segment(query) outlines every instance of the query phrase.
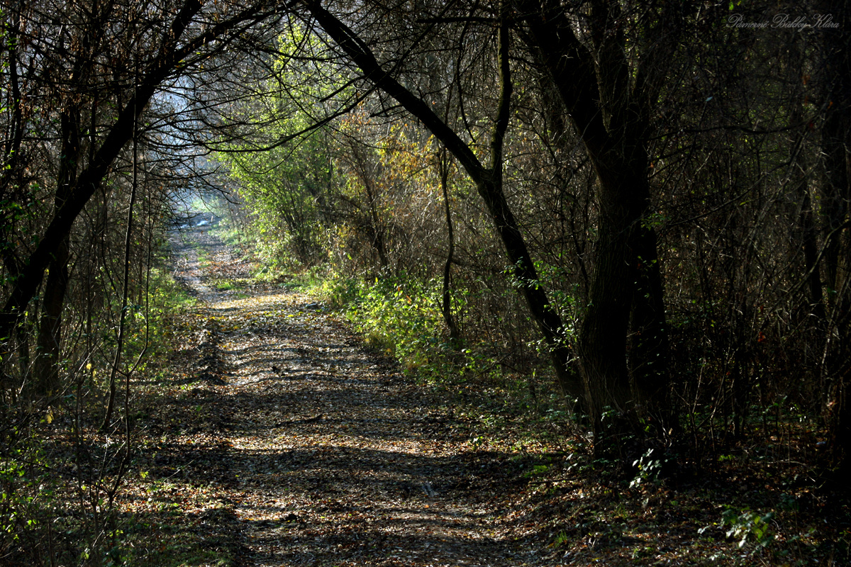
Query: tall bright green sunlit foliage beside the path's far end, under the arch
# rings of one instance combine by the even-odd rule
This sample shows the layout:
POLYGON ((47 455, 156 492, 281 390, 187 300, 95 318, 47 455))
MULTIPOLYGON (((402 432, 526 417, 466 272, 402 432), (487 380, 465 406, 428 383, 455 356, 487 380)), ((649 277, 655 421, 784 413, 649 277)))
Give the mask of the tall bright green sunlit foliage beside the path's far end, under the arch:
POLYGON ((331 189, 340 181, 329 132, 314 128, 318 118, 308 109, 311 102, 326 108, 327 97, 345 96, 351 87, 340 71, 297 56, 323 48, 305 30, 291 27, 278 43, 282 55, 273 61, 277 77, 260 83, 256 105, 237 105, 231 116, 234 122, 263 126, 253 139, 220 146, 214 159, 239 186, 249 221, 243 230, 260 258, 272 267, 310 265, 324 259, 323 217, 331 206, 331 189), (266 151, 248 151, 264 145, 269 146, 266 151))

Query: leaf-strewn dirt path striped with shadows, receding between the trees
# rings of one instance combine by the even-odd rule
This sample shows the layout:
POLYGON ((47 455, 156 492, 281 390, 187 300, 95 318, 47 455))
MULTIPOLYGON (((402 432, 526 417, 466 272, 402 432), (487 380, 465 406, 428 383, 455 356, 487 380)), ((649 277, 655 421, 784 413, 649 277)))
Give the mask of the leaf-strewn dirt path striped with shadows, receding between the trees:
POLYGON ((507 456, 311 298, 247 285, 253 265, 209 228, 174 248, 205 323, 197 422, 159 457, 207 487, 208 544, 258 567, 537 563, 502 517, 507 456))

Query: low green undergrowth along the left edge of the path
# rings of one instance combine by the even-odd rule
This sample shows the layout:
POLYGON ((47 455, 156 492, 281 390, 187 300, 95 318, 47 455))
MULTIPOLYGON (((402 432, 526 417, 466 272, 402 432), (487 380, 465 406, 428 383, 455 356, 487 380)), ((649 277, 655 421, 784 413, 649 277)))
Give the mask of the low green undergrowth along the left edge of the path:
POLYGON ((64 362, 66 387, 59 394, 29 404, 3 400, 0 565, 123 564, 128 520, 115 503, 134 458, 135 384, 165 370, 175 314, 192 302, 164 270, 151 271, 149 298, 128 309, 119 414, 106 427, 115 342, 106 325, 89 337, 87 349, 77 345, 83 354, 64 362), (131 377, 129 404, 125 376, 131 377))

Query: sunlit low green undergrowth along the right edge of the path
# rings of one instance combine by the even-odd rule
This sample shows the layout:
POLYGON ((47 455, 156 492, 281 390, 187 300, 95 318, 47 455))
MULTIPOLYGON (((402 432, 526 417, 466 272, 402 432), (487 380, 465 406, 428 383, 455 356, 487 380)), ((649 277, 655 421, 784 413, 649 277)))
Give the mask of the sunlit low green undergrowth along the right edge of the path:
MULTIPOLYGON (((366 281, 311 273, 307 281, 308 293, 340 309, 370 346, 398 360, 403 371, 421 383, 462 398, 471 392, 493 398, 483 404, 500 412, 547 420, 567 417, 547 361, 518 361, 516 353, 487 337, 450 340, 437 278, 420 282, 398 275, 366 281)), ((452 304, 459 318, 471 309, 460 292, 453 294, 452 304)))

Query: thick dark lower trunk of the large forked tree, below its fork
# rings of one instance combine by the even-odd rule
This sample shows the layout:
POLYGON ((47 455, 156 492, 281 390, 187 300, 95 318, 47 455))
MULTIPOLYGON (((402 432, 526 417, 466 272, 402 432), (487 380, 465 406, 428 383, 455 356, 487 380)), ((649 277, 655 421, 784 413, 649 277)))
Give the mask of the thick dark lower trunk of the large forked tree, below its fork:
POLYGON ((603 439, 648 424, 670 426, 670 407, 662 281, 656 237, 646 225, 647 176, 629 165, 595 162, 599 238, 580 357, 595 432, 603 439), (603 422, 607 414, 612 423, 603 422))

